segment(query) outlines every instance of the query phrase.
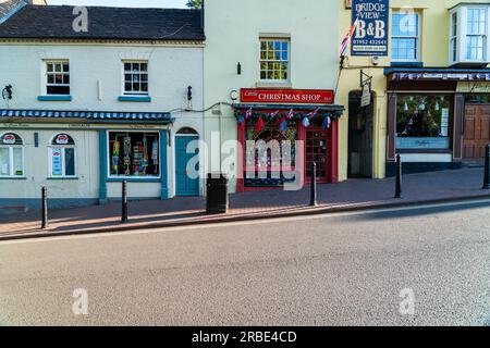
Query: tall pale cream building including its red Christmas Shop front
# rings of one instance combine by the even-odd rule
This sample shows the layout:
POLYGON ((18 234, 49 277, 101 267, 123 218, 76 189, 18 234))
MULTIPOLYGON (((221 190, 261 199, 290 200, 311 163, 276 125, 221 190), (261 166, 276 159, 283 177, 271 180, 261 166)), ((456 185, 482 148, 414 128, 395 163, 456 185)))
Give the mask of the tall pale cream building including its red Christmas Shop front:
POLYGON ((206 1, 209 167, 229 175, 231 191, 307 182, 313 162, 320 182, 343 178, 339 42, 328 34, 338 13, 332 1, 206 1))

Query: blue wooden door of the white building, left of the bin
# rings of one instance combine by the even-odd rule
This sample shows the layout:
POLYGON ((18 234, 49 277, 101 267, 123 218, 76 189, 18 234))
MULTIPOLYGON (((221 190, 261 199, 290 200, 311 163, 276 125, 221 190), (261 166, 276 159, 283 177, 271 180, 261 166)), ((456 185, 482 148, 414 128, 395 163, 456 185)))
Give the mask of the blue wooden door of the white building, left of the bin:
MULTIPOLYGON (((176 136, 175 137, 175 189, 176 196, 199 196, 199 178, 191 178, 187 172, 187 163, 199 150, 187 153, 187 145, 197 140, 197 136, 176 136)), ((199 163, 197 162, 195 170, 199 173, 199 163)))

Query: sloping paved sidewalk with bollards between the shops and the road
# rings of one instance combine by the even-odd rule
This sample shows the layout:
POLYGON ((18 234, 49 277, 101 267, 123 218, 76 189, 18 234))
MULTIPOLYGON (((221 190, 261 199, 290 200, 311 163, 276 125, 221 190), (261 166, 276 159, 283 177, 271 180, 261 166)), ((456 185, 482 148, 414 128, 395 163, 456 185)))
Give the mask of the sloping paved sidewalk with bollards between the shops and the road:
POLYGON ((481 189, 483 169, 411 174, 403 177, 403 198, 393 199, 394 178, 350 179, 318 186, 317 208, 309 208, 309 186, 299 191, 270 189, 230 196, 230 211, 206 215, 204 198, 130 202, 130 223, 121 225, 121 203, 52 210, 48 231, 39 231, 39 212, 0 215, 0 239, 89 232, 175 226, 319 212, 339 212, 464 198, 490 198, 481 189))

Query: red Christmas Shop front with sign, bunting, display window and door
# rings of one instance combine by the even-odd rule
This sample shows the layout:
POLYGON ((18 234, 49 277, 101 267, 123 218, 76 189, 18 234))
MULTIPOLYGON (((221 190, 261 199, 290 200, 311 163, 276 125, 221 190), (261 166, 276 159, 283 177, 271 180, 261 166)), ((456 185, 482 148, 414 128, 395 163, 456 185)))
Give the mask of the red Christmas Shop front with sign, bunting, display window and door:
POLYGON ((331 90, 242 89, 234 104, 237 121, 237 191, 311 182, 336 183, 338 120, 344 108, 333 104, 331 90), (287 102, 287 103, 284 103, 287 102))

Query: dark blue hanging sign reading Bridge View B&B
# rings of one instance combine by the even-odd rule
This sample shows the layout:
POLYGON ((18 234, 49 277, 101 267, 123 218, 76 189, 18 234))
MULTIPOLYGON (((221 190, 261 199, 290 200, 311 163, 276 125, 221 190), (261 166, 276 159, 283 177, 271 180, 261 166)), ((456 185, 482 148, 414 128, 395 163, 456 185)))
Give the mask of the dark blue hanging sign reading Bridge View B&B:
POLYGON ((388 55, 389 0, 353 0, 352 23, 358 18, 352 38, 352 55, 388 55))

